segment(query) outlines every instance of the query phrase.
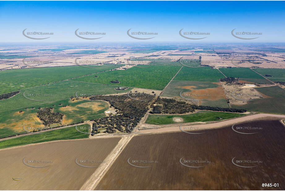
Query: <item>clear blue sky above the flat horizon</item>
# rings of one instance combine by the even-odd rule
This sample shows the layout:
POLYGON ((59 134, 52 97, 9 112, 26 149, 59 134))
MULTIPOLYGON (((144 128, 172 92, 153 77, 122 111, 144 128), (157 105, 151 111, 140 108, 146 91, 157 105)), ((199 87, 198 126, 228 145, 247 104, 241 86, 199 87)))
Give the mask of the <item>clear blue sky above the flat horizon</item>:
MULTIPOLYGON (((0 42, 285 42, 285 2, 283 1, 7 1, 0 2, 0 42), (53 32, 50 37, 34 40, 22 32, 53 32), (102 37, 85 40, 78 32, 105 32, 102 37), (127 35, 130 32, 157 32, 154 37, 138 40, 127 35), (189 40, 182 32, 209 32, 207 37, 189 40), (261 32, 259 37, 242 40, 231 35, 235 32, 261 32)), ((82 35, 84 36, 84 35, 82 35)))

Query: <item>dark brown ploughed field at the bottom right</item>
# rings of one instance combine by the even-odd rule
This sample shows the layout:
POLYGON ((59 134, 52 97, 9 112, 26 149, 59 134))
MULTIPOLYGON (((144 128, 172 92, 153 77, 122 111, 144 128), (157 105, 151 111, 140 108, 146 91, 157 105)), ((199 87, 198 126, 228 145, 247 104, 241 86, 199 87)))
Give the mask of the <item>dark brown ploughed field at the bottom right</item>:
POLYGON ((285 127, 271 118, 238 126, 262 129, 255 130, 256 134, 239 134, 229 125, 195 131, 203 134, 135 136, 95 190, 284 190, 285 127), (238 167, 232 163, 233 158, 240 166, 256 167, 238 167), (279 183, 279 187, 262 187, 262 183, 269 182, 279 183))

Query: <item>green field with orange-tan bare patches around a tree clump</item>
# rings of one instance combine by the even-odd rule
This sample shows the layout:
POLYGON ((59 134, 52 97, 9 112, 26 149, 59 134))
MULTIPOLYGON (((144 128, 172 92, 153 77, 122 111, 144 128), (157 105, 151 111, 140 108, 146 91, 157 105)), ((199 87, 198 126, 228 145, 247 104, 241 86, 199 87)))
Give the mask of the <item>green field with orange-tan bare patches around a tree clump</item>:
MULTIPOLYGON (((27 108, 15 109, 1 112, 0 115, 0 137, 24 133, 23 125, 43 127, 42 122, 37 118, 38 108, 53 108, 53 112, 64 114, 62 125, 79 123, 97 118, 105 117, 105 111, 109 108, 103 101, 84 101, 65 99, 52 103, 29 106, 27 108), (32 108, 34 107, 34 108, 32 108), (18 113, 19 111, 21 113, 18 113)), ((60 124, 54 124, 58 126, 60 124)))

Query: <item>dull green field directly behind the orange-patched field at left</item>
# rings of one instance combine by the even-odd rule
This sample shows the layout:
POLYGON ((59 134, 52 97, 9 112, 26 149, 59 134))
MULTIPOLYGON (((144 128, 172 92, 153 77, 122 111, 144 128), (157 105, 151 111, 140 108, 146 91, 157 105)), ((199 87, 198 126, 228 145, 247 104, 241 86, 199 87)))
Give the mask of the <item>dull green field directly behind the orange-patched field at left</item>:
MULTIPOLYGON (((93 76, 93 75, 92 75, 93 76)), ((62 81, 57 83, 51 83, 44 86, 33 87, 27 90, 21 90, 19 94, 5 100, 0 100, 0 115, 1 112, 14 110, 16 108, 23 109, 25 107, 38 107, 45 103, 53 103, 57 100, 64 100, 68 99, 69 97, 75 97, 76 91, 78 91, 78 96, 80 94, 91 94, 91 95, 98 95, 98 94, 115 94, 115 93, 124 93, 130 91, 132 88, 128 88, 126 90, 115 90, 117 86, 110 86, 110 85, 101 85, 101 84, 92 84, 92 83, 81 83, 81 82, 74 82, 74 81, 62 81), (28 100, 23 96, 25 92, 25 96, 29 99, 28 100), (28 96, 32 94, 38 94, 37 96, 28 96), (40 96, 43 95, 50 95, 50 96, 40 96), (52 96, 51 96, 52 95, 52 96), (34 101, 34 100, 44 100, 44 101, 34 101)))

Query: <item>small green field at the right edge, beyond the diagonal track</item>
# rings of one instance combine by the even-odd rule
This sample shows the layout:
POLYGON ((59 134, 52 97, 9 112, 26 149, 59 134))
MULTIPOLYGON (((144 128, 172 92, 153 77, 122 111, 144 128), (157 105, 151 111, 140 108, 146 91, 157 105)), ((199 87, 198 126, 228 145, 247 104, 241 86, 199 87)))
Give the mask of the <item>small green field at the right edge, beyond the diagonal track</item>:
POLYGON ((259 74, 265 76, 266 74, 271 76, 265 76, 273 82, 285 82, 285 69, 276 69, 276 68, 255 68, 253 69, 259 74))

